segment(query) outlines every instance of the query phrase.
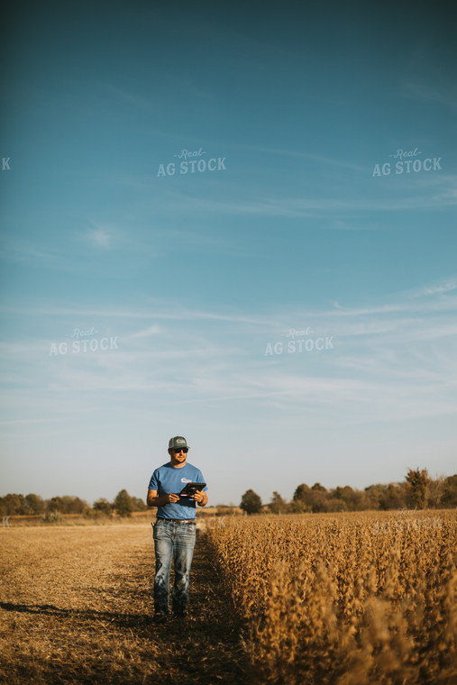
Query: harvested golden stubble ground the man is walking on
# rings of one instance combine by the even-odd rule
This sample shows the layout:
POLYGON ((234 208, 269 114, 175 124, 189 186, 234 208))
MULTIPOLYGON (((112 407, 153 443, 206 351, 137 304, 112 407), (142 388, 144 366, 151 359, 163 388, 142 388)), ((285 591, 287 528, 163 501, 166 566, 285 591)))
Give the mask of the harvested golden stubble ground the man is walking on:
POLYGON ((189 617, 152 624, 149 524, 0 530, 0 682, 247 682, 230 599, 205 536, 189 617))

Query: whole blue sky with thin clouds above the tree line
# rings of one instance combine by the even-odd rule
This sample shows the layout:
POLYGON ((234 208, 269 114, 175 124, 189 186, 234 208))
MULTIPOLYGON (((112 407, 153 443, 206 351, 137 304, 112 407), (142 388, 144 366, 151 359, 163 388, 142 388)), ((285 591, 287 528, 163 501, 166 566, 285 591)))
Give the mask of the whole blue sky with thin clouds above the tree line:
POLYGON ((1 495, 456 472, 446 6, 9 5, 1 495))

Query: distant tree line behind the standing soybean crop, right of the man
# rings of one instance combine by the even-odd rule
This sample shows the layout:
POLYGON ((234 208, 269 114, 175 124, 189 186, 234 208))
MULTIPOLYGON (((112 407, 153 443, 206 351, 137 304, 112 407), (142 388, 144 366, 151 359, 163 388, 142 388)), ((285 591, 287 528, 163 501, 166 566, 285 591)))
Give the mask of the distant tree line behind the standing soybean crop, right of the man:
POLYGON ((349 485, 326 489, 320 483, 310 488, 306 483, 301 483, 290 502, 275 491, 268 504, 263 504, 260 496, 249 489, 242 496, 240 507, 247 514, 263 511, 287 514, 451 508, 457 507, 457 474, 432 479, 426 469, 409 469, 406 479, 401 483, 370 485, 363 490, 353 489, 349 485))

